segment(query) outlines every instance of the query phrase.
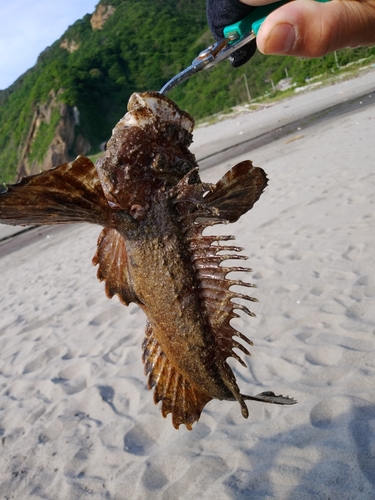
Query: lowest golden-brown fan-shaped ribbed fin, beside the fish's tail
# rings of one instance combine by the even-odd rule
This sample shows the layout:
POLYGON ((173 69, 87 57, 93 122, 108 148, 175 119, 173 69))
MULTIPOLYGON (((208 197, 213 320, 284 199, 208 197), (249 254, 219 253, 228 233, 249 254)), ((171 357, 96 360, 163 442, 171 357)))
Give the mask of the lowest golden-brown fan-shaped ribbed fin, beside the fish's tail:
POLYGON ((199 420, 203 408, 212 398, 194 387, 177 371, 164 354, 149 322, 142 348, 148 388, 155 389, 155 404, 162 402, 163 417, 168 413, 172 414, 175 429, 185 424, 188 430, 192 430, 193 423, 199 420))

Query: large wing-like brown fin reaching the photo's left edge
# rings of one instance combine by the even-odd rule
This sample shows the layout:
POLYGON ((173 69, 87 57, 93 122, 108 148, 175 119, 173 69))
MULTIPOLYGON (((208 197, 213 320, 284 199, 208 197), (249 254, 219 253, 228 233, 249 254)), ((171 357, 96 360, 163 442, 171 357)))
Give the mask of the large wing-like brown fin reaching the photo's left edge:
POLYGON ((0 222, 4 224, 91 222, 108 226, 112 214, 95 165, 85 156, 24 177, 0 194, 0 222))

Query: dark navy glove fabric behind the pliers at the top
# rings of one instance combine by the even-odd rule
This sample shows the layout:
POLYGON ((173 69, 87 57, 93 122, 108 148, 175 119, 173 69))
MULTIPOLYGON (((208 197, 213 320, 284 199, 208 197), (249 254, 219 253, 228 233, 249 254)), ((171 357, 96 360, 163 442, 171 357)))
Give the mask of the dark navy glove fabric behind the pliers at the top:
MULTIPOLYGON (((224 38, 223 29, 226 26, 240 21, 252 11, 254 7, 245 5, 239 0, 207 0, 207 21, 216 40, 224 38)), ((256 42, 252 40, 240 49, 233 52, 229 58, 232 66, 237 68, 245 64, 256 50, 256 42)))

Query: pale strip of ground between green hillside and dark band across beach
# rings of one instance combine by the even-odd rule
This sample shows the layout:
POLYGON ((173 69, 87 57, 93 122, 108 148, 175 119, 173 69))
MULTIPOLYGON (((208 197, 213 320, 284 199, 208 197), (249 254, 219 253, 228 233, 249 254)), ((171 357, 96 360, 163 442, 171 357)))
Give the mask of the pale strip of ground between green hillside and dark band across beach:
MULTIPOLYGON (((303 121, 311 116, 319 119, 319 113, 327 110, 341 113, 353 106, 369 104, 375 104, 375 68, 356 78, 318 87, 267 108, 244 112, 214 125, 198 128, 194 133, 191 150, 197 156, 201 168, 208 168, 290 133, 293 127, 296 130, 298 126, 303 127, 303 121), (364 96, 366 99, 362 102, 360 98, 364 96)), ((58 230, 61 229, 60 226, 58 230)), ((9 240, 13 235, 24 231, 24 227, 0 224, 0 256, 16 248, 15 243, 9 240)), ((30 231, 21 240, 26 244, 33 238, 44 236, 45 231, 30 231)))

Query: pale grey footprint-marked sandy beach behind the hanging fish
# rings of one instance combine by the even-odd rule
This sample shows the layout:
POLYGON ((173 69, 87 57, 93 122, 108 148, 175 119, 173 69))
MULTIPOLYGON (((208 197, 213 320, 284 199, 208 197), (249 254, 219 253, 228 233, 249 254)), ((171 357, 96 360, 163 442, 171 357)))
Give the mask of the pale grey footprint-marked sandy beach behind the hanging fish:
POLYGON ((145 316, 108 300, 91 264, 99 227, 0 242, 0 498, 375 498, 374 137, 375 70, 196 133, 205 181, 244 159, 269 177, 214 230, 257 285, 257 317, 236 320, 254 342, 248 368, 230 362, 241 392, 298 400, 249 402, 247 420, 229 401, 190 432, 162 417, 145 316))

